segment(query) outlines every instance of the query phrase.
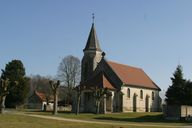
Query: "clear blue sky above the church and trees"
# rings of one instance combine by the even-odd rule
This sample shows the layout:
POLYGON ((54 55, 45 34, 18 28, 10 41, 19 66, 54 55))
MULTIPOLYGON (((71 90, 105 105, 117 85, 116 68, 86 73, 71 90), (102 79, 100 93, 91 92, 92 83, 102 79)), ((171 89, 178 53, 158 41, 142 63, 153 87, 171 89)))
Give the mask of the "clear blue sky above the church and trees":
POLYGON ((0 69, 56 76, 61 59, 82 59, 95 14, 106 59, 142 68, 167 90, 178 64, 192 78, 191 0, 0 0, 0 69))

